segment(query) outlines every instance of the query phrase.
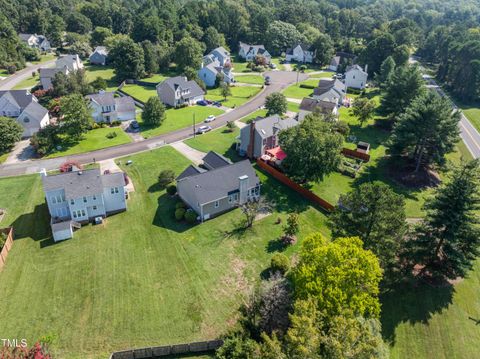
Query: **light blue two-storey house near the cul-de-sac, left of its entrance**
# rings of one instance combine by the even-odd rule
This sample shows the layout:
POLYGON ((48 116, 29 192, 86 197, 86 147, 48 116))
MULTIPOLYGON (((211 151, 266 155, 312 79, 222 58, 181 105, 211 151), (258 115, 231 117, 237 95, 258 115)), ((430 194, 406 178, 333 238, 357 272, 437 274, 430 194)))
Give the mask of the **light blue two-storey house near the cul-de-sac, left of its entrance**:
POLYGON ((217 76, 221 76, 223 81, 230 84, 235 81, 230 53, 223 47, 217 47, 202 59, 202 67, 198 70, 198 77, 207 87, 215 86, 217 76))

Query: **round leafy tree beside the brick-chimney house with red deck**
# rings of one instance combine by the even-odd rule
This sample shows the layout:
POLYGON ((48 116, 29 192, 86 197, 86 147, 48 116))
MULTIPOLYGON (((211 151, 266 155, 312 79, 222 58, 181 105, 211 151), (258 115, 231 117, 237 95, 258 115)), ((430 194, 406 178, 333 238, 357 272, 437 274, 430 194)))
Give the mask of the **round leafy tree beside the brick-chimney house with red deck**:
POLYGON ((318 182, 338 168, 343 137, 331 123, 310 115, 281 131, 279 144, 287 154, 282 165, 292 179, 318 182))

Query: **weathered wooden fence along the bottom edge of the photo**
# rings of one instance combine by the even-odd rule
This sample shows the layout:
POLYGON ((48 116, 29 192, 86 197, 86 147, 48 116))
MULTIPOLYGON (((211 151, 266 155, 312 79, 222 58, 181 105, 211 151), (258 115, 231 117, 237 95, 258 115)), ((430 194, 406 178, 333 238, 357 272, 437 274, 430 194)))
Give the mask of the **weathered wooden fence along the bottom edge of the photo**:
POLYGON ((168 355, 200 354, 213 352, 223 345, 223 340, 210 340, 205 342, 164 345, 161 347, 148 347, 115 352, 110 359, 150 359, 168 355))

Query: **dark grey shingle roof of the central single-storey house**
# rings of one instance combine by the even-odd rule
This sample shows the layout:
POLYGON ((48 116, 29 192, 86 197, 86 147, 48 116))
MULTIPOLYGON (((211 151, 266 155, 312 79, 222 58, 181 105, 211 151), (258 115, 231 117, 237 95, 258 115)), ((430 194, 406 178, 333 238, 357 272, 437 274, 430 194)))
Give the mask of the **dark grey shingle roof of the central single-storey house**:
POLYGON ((239 189, 239 177, 248 176, 248 188, 260 181, 249 160, 243 160, 210 171, 184 177, 182 187, 195 197, 196 202, 206 204, 228 196, 239 189))

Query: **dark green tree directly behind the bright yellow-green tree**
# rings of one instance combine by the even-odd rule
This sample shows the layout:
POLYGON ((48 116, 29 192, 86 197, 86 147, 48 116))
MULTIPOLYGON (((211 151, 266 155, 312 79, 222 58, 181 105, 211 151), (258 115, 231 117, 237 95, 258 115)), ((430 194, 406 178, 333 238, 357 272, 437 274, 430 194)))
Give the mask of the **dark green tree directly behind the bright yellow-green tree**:
POLYGON ((364 183, 340 196, 330 216, 335 237, 360 237, 383 269, 396 263, 406 230, 405 201, 381 182, 364 183))

